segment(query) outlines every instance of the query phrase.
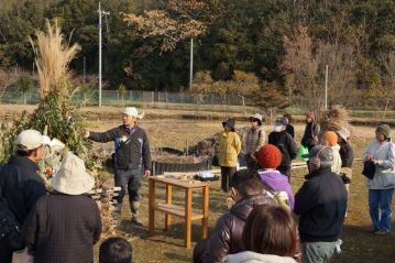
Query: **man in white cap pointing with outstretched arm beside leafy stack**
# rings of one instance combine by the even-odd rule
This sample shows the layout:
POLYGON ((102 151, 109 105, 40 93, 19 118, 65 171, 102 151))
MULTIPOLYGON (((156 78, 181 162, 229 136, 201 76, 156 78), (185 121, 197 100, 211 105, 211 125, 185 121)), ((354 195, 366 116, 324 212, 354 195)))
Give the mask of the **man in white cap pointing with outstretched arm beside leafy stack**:
POLYGON ((116 186, 121 187, 118 197, 118 213, 121 213, 122 200, 128 187, 130 208, 132 210, 132 222, 141 227, 138 218, 140 208, 141 176, 151 175, 151 152, 149 138, 141 129, 136 120, 142 119, 134 107, 127 107, 123 110, 123 124, 106 132, 87 132, 86 138, 96 142, 116 143, 114 171, 116 186))

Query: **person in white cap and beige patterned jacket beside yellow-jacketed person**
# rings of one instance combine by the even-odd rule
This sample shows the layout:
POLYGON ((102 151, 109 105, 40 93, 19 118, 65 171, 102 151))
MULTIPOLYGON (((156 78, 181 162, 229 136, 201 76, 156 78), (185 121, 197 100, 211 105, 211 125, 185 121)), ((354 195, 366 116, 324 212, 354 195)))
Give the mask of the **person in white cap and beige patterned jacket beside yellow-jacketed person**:
POLYGON ((266 143, 266 134, 262 128, 263 117, 260 113, 251 116, 251 128, 246 132, 244 140, 245 145, 245 162, 246 166, 251 171, 259 168, 255 153, 266 143))

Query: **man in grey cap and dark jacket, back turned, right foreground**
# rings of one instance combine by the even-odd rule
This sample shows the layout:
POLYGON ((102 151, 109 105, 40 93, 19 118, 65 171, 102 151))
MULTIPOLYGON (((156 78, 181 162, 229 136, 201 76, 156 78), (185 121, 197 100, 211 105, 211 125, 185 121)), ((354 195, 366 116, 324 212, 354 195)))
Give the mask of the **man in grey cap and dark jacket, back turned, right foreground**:
POLYGON ((295 195, 294 212, 299 215, 304 262, 329 262, 337 248, 347 210, 347 191, 341 178, 331 172, 333 152, 314 146, 306 182, 295 195))

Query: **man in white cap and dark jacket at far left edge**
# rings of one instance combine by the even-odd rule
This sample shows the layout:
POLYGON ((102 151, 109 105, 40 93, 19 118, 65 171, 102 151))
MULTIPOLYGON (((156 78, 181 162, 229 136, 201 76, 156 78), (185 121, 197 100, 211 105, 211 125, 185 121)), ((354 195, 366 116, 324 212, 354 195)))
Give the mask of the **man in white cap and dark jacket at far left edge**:
MULTIPOLYGON (((28 213, 46 193, 37 173, 37 162, 44 157, 44 153, 42 134, 35 130, 22 131, 17 136, 15 155, 0 169, 0 211, 8 207, 7 210, 20 226, 25 223, 28 213)), ((0 262, 11 262, 12 252, 23 248, 23 244, 22 248, 10 248, 10 243, 1 239, 0 262)))

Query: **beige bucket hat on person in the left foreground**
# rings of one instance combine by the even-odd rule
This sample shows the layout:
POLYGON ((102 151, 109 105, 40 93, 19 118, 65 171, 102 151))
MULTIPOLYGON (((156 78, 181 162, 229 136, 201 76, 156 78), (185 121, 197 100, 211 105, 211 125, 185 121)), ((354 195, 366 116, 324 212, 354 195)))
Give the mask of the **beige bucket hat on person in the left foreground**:
POLYGON ((68 152, 52 179, 52 186, 63 194, 81 195, 95 187, 95 179, 87 173, 84 161, 68 152))

